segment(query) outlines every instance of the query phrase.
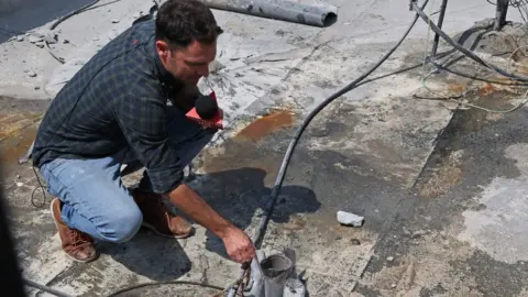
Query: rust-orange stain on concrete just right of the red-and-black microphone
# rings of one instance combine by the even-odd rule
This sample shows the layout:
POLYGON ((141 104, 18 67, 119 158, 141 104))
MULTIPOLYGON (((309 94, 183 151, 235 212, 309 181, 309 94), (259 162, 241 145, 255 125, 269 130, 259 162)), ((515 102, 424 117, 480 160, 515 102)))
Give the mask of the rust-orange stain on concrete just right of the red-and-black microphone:
POLYGON ((270 135, 272 132, 292 127, 294 120, 294 114, 290 111, 274 111, 250 123, 248 127, 242 129, 242 131, 240 131, 234 139, 260 141, 270 135))

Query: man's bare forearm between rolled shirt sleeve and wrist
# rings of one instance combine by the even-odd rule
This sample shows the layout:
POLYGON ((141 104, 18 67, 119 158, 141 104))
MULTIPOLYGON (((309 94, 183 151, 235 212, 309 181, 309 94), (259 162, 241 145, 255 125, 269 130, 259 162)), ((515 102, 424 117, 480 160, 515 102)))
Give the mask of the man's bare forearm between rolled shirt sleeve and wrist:
POLYGON ((193 220, 223 239, 235 228, 216 212, 195 190, 185 184, 167 195, 170 202, 187 213, 193 220))

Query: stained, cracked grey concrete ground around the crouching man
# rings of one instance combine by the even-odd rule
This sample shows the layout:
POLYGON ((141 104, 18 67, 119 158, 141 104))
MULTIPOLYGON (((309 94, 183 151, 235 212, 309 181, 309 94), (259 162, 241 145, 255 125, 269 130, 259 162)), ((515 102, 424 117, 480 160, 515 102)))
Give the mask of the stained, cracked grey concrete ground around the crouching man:
MULTIPOLYGON (((38 30, 57 13, 86 2, 43 6, 0 21, 8 33, 38 30)), ((201 176, 194 186, 250 234, 297 124, 388 51, 413 15, 400 1, 330 2, 338 6, 339 19, 327 29, 215 11, 227 32, 218 55, 224 67, 209 81, 229 129, 195 161, 201 176)), ((494 15, 484 1, 452 2, 444 23, 451 35, 494 15)), ((33 140, 46 99, 150 6, 102 1, 67 20, 59 26, 59 42, 52 45, 64 65, 28 43, 28 36, 20 41, 8 35, 0 44, 0 140, 8 169, 2 186, 21 266, 31 279, 76 296, 106 296, 146 280, 224 286, 238 275, 239 266, 227 258, 220 240, 201 228, 178 241, 142 230, 124 244, 98 243, 102 255, 97 262, 69 261, 50 217, 50 197, 43 200, 35 190, 32 167, 16 164, 33 140), (90 22, 95 18, 102 21, 90 22)), ((517 21, 515 13, 509 19, 517 21)), ((471 34, 465 44, 477 35, 471 34)), ((420 64, 427 36, 419 22, 376 74, 420 64)), ((497 63, 506 65, 504 58, 497 63)), ((457 67, 479 72, 468 61, 457 67)), ((296 250, 310 296, 528 295, 528 254, 522 249, 528 226, 522 199, 526 108, 491 113, 424 99, 462 92, 470 102, 507 109, 519 102, 522 90, 440 74, 426 81, 431 94, 422 77, 418 67, 362 86, 330 105, 304 134, 264 249, 296 250), (365 226, 340 226, 338 210, 364 216, 365 226)), ((134 182, 134 176, 125 178, 134 182)), ((213 293, 173 285, 140 288, 129 296, 213 293)))

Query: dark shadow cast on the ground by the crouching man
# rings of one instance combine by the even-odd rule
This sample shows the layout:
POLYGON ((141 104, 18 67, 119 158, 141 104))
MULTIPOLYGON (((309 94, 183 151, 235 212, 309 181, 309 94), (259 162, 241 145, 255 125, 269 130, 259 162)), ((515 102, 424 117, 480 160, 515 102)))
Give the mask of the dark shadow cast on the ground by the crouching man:
MULTIPOLYGON (((271 188, 264 185, 265 176, 266 172, 263 169, 241 168, 198 176, 188 184, 216 211, 245 230, 252 222, 255 211, 264 208, 263 199, 271 194, 271 188)), ((315 212, 319 208, 320 202, 310 189, 283 186, 271 220, 287 222, 294 213, 315 212)), ((210 231, 207 231, 206 235, 204 249, 228 258, 223 242, 210 231)), ((189 258, 182 244, 185 245, 184 241, 161 238, 142 229, 127 243, 99 243, 97 248, 131 272, 164 282, 179 278, 190 271, 191 263, 200 261, 196 256, 189 258)))

